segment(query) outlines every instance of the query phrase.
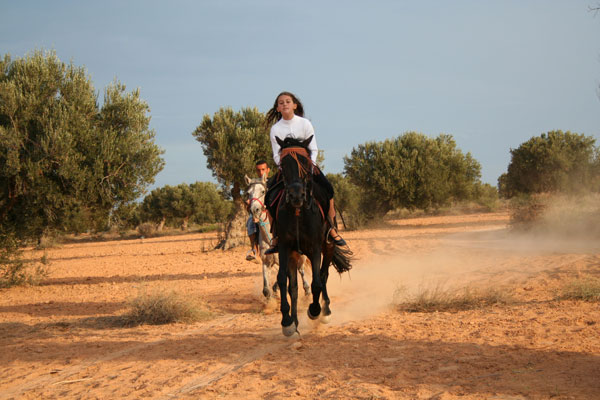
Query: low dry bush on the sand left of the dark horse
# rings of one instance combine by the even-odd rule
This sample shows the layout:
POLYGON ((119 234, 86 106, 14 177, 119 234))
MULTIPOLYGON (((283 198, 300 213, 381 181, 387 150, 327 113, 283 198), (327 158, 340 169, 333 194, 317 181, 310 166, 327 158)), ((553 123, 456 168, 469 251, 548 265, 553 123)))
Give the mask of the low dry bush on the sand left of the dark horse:
POLYGON ((194 300, 175 292, 142 292, 130 301, 130 310, 123 316, 125 325, 162 325, 174 322, 207 320, 212 313, 194 300))

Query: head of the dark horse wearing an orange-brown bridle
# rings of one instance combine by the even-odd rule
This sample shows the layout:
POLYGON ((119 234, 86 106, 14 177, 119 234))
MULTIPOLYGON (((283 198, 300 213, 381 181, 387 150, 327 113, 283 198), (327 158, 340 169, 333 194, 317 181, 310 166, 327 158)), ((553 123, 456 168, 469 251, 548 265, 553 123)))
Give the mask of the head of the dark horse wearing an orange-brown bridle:
POLYGON ((312 194, 313 163, 308 150, 312 138, 276 138, 281 146, 280 167, 285 184, 285 201, 294 208, 302 207, 308 201, 309 193, 312 194))

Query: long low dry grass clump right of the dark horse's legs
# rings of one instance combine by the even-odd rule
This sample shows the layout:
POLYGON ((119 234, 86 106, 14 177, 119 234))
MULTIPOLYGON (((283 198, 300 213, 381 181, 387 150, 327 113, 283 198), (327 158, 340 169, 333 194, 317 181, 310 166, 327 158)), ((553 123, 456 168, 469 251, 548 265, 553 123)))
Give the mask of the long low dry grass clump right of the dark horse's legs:
POLYGON ((399 288, 394 293, 396 309, 406 312, 457 312, 510 302, 512 296, 508 290, 491 287, 448 289, 443 285, 437 285, 421 288, 412 295, 407 295, 404 288, 399 288))

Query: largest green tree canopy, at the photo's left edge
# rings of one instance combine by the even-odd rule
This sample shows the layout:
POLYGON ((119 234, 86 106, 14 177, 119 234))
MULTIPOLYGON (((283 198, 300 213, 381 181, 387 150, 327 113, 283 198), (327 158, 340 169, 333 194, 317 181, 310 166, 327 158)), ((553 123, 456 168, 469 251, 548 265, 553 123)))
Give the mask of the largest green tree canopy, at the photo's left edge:
MULTIPOLYGON (((90 224, 133 201, 163 168, 148 105, 119 82, 98 96, 83 67, 36 51, 0 60, 0 229, 19 238, 90 224), (81 213, 79 213, 81 214, 81 213)), ((99 222, 100 221, 100 222, 99 222)))

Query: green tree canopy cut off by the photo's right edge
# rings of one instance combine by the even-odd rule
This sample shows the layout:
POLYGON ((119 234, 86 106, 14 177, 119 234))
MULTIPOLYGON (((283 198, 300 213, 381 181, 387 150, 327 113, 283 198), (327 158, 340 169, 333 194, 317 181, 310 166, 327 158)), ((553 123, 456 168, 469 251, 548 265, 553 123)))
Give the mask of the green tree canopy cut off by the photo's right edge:
POLYGON ((560 130, 534 136, 511 149, 508 170, 498 178, 503 197, 542 192, 598 191, 595 139, 560 130))

